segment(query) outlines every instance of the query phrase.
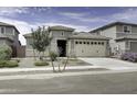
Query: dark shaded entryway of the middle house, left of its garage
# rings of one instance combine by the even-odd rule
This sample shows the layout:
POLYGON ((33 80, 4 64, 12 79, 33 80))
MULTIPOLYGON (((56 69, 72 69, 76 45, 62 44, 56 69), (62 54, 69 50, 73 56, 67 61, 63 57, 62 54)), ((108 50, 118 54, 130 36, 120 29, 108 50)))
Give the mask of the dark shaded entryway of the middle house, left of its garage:
POLYGON ((66 41, 57 39, 57 47, 60 52, 60 57, 65 57, 66 56, 66 41))

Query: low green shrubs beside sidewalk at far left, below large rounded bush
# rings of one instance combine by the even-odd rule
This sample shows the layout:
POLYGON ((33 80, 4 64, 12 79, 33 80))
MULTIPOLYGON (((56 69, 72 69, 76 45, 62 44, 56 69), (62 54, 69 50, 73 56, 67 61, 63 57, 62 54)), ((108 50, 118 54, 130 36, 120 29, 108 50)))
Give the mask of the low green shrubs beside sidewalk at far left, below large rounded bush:
POLYGON ((0 60, 0 68, 13 68, 13 67, 18 67, 18 61, 15 60, 0 60))

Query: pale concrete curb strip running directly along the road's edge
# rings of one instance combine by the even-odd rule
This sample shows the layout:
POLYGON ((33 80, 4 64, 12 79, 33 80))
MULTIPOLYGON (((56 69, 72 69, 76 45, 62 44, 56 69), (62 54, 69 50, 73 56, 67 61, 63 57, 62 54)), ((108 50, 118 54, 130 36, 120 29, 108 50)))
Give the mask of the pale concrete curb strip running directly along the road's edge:
MULTIPOLYGON (((11 71, 9 71, 10 73, 12 73, 11 71)), ((83 75, 106 75, 106 73, 125 73, 125 72, 137 72, 137 69, 133 69, 133 70, 103 70, 103 71, 72 71, 72 72, 50 72, 50 73, 12 73, 9 75, 9 72, 4 71, 4 73, 8 75, 3 75, 0 76, 0 80, 18 80, 18 79, 52 79, 52 78, 56 78, 56 77, 72 77, 72 76, 83 76, 83 75)), ((22 71, 21 71, 22 72, 22 71)))

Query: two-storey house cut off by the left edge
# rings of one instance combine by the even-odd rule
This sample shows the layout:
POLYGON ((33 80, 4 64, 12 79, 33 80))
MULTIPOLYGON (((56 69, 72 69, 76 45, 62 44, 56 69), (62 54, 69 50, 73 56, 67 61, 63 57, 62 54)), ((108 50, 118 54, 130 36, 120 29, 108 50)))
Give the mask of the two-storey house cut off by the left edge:
POLYGON ((20 57, 20 32, 14 25, 0 22, 0 45, 6 44, 12 48, 12 57, 20 57))

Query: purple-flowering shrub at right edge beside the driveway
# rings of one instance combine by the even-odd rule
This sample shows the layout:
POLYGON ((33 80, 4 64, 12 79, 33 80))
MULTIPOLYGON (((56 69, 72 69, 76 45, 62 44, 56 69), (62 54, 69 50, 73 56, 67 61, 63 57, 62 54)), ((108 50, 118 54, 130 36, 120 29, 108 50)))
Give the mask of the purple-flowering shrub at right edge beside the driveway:
POLYGON ((137 61, 137 53, 125 53, 120 56, 123 60, 137 61))

